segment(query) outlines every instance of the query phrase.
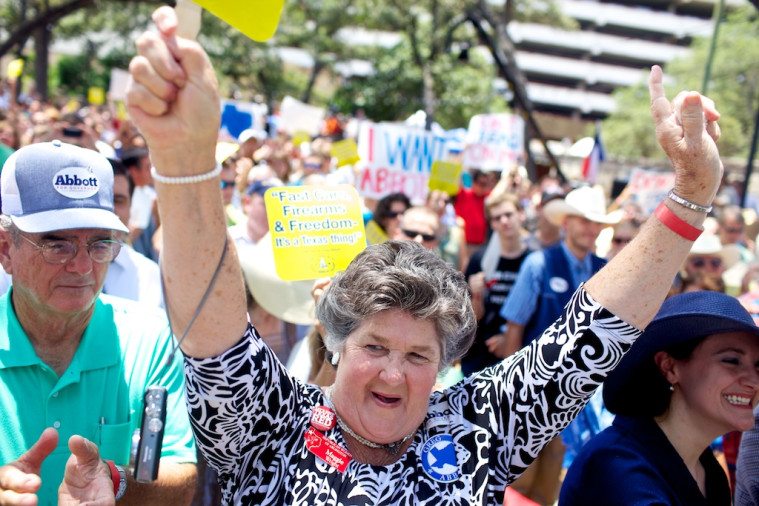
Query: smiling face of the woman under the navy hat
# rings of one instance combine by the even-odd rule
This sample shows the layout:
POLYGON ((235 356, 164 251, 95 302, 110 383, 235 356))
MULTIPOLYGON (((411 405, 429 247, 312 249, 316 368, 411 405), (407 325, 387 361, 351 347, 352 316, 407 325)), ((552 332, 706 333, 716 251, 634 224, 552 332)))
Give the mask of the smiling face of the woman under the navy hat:
MULTIPOLYGON (((660 352, 664 353, 664 352, 660 352)), ((714 437, 754 426, 759 403, 759 339, 744 332, 704 339, 686 360, 666 353, 660 367, 675 385, 672 405, 679 403, 690 423, 714 437), (669 365, 667 365, 669 363, 669 365)))

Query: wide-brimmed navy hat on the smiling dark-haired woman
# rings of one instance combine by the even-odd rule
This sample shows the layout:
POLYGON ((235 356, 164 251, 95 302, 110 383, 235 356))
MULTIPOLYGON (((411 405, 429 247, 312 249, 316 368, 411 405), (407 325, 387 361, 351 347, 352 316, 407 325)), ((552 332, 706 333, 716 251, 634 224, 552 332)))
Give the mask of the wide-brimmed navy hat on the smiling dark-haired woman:
POLYGON ((700 291, 664 301, 646 330, 604 381, 603 398, 612 413, 640 415, 652 402, 652 390, 664 386, 654 355, 714 334, 747 332, 759 327, 735 297, 700 291))

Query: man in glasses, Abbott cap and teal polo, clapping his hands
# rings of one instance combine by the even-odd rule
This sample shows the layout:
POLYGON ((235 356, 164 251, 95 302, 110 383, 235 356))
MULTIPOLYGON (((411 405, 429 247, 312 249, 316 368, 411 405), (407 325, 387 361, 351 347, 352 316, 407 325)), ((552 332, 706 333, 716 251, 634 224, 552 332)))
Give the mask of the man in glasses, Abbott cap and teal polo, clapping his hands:
POLYGON ((188 503, 195 444, 166 317, 101 295, 127 232, 110 163, 53 141, 18 150, 1 178, 13 284, 0 297, 0 503, 85 500, 93 481, 127 502, 188 503), (144 484, 123 466, 153 385, 168 391, 167 417, 158 479, 144 484))

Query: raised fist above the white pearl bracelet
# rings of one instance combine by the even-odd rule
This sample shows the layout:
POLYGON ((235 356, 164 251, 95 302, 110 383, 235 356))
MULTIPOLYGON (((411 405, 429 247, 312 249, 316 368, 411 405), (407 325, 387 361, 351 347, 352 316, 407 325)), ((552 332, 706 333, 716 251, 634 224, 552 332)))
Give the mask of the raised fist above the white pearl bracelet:
POLYGON ((138 55, 129 64, 129 114, 159 170, 209 171, 215 163, 221 121, 216 75, 198 43, 176 36, 177 17, 172 8, 158 8, 153 21, 158 33, 140 36, 138 55))

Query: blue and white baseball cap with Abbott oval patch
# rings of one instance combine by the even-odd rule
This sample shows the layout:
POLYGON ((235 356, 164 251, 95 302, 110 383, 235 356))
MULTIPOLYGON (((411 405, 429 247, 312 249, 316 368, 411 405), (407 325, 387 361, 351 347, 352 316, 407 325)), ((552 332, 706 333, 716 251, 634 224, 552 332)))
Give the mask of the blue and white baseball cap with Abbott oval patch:
POLYGON ((99 228, 128 232, 113 212, 113 169, 97 151, 55 140, 25 146, 3 165, 3 214, 29 233, 99 228))

